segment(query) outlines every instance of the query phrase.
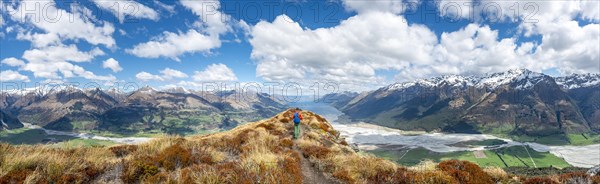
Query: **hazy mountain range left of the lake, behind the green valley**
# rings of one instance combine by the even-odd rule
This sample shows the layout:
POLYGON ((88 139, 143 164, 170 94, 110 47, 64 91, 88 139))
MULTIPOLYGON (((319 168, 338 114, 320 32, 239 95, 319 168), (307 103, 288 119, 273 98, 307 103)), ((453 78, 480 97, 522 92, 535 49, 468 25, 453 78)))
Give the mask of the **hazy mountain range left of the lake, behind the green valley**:
POLYGON ((241 122, 271 117, 285 105, 267 94, 253 92, 143 87, 125 93, 61 87, 2 92, 0 109, 4 128, 22 127, 23 122, 53 130, 134 134, 228 129, 241 122))

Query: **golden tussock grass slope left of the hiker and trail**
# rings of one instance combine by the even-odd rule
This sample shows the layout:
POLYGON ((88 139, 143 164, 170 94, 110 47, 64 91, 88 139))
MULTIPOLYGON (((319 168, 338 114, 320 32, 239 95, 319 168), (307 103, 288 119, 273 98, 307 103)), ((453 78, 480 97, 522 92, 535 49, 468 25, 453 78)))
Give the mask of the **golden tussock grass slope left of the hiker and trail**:
POLYGON ((0 183, 298 183, 301 156, 287 122, 273 118, 139 145, 0 144, 0 183))

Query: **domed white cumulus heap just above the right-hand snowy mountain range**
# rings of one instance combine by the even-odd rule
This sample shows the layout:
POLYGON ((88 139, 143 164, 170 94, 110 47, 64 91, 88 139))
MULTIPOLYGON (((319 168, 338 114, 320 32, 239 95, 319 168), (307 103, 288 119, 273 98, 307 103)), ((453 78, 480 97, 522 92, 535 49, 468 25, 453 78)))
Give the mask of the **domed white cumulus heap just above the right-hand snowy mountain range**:
POLYGON ((396 76, 397 80, 413 80, 442 74, 480 75, 512 68, 541 71, 543 63, 533 59, 534 43, 517 44, 514 38, 500 39, 497 30, 489 26, 469 24, 454 31, 442 33, 435 46, 433 64, 412 63, 396 76))

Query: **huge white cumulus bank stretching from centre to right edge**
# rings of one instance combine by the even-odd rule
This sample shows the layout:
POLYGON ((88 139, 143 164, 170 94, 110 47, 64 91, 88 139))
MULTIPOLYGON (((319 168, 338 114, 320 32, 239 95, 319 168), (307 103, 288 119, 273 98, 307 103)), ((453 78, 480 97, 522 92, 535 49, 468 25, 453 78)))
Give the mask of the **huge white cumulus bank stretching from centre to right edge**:
MULTIPOLYGON (((461 11, 452 12, 449 8, 442 12, 443 16, 454 13, 458 18, 483 17, 474 17, 478 23, 444 32, 438 38, 426 26, 406 24, 402 15, 398 15, 401 11, 393 6, 400 1, 378 1, 388 6, 378 3, 359 6, 360 1, 343 3, 358 14, 334 27, 302 28, 296 22, 289 22, 285 15, 253 26, 251 58, 257 61, 257 76, 267 81, 318 79, 340 84, 384 84, 389 81, 381 82, 387 79, 380 72, 396 73, 394 80, 413 80, 442 74, 479 75, 512 68, 538 72, 557 68, 564 74, 597 73, 600 68, 600 26, 594 22, 597 18, 593 14, 598 6, 585 8, 581 5, 583 1, 543 4, 540 9, 547 10, 540 10, 537 23, 517 23, 516 35, 505 38, 483 23, 492 14, 473 15, 482 11, 477 7, 467 7, 475 12, 464 7, 461 11), (575 20, 578 17, 592 23, 582 25, 575 20), (532 35, 540 35, 542 40, 519 41, 520 37, 532 35)), ((436 3, 439 7, 469 6, 466 1, 436 3)), ((502 7, 512 5, 499 3, 504 3, 500 4, 502 7)), ((525 14, 498 16, 505 16, 496 17, 498 21, 525 18, 525 14)))

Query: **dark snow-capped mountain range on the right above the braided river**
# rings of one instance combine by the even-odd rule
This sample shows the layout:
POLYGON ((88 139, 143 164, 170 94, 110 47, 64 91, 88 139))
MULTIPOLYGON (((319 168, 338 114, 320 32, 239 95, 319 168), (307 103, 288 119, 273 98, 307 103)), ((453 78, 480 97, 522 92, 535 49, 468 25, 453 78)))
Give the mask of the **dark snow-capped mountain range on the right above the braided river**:
POLYGON ((407 129, 544 136, 599 130, 600 75, 511 70, 397 83, 335 104, 354 120, 407 129))

